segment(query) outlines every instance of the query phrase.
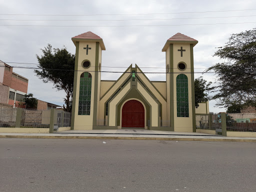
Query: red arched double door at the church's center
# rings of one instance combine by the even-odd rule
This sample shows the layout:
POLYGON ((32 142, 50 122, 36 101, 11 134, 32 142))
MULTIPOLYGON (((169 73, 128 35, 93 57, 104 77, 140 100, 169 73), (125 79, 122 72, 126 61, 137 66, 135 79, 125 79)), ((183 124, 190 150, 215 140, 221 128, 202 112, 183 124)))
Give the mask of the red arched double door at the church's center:
POLYGON ((145 127, 144 107, 137 100, 128 100, 122 107, 122 127, 145 127))

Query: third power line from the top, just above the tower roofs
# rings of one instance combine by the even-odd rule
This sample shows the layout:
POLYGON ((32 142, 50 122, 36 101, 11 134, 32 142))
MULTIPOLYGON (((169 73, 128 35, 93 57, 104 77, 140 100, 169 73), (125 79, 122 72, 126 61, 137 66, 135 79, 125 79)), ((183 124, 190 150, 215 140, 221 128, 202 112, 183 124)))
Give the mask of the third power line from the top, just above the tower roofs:
POLYGON ((130 26, 189 26, 189 25, 216 25, 216 24, 246 24, 256 22, 229 22, 229 23, 199 23, 199 24, 148 24, 148 25, 15 25, 0 24, 0 26, 49 26, 49 27, 130 27, 130 26))

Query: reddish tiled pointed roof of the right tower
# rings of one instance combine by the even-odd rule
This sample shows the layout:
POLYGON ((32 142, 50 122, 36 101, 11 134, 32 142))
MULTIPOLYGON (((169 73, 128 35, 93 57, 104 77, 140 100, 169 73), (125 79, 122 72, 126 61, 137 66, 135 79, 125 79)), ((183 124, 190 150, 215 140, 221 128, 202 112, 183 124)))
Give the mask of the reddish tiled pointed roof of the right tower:
POLYGON ((197 44, 197 42, 198 42, 197 40, 178 32, 178 33, 174 34, 172 37, 170 37, 169 39, 167 39, 166 43, 164 44, 164 46, 162 48, 162 51, 165 51, 168 48, 168 45, 170 43, 193 44, 193 46, 194 46, 197 44))

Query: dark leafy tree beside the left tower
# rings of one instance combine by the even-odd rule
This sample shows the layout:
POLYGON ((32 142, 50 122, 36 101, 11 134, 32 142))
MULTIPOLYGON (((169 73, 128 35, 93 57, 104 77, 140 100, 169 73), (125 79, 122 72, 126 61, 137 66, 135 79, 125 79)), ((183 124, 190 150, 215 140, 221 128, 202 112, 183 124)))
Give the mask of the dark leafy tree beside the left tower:
POLYGON ((65 91, 63 107, 66 111, 71 111, 75 56, 65 47, 52 48, 50 44, 41 50, 43 55, 36 54, 40 70, 34 72, 43 82, 51 82, 57 90, 65 91))

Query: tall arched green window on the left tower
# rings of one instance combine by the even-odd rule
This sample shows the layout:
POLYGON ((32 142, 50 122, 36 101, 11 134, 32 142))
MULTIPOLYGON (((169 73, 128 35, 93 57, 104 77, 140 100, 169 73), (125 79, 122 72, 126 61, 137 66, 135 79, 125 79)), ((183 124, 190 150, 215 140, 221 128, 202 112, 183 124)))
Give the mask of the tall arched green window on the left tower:
POLYGON ((78 114, 90 114, 90 95, 91 95, 91 74, 83 72, 80 76, 78 114))

